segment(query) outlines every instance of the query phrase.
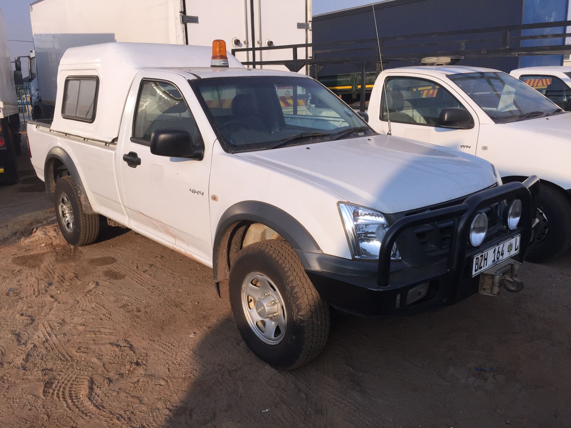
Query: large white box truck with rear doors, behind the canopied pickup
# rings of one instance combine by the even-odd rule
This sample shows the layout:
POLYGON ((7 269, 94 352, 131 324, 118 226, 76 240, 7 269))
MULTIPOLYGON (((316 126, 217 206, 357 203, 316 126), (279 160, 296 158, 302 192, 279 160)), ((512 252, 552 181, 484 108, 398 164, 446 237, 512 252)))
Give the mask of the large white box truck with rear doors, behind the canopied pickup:
MULTIPOLYGON (((106 42, 211 46, 214 39, 224 40, 228 49, 311 43, 311 0, 39 0, 30 5, 30 19, 43 118, 53 118, 58 64, 70 47, 106 42)), ((241 61, 251 59, 251 53, 240 54, 241 61)), ((284 53, 262 55, 283 59, 284 53)), ((297 55, 308 58, 311 51, 300 49, 297 55)))

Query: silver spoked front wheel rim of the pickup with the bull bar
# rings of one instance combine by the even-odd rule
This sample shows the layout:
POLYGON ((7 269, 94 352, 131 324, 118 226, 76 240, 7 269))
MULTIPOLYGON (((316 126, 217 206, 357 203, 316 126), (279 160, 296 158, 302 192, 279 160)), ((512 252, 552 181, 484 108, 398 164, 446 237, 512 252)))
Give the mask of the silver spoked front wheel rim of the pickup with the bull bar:
POLYGON ((268 345, 277 345, 286 336, 287 314, 282 294, 261 272, 252 272, 242 282, 242 309, 248 325, 268 345))

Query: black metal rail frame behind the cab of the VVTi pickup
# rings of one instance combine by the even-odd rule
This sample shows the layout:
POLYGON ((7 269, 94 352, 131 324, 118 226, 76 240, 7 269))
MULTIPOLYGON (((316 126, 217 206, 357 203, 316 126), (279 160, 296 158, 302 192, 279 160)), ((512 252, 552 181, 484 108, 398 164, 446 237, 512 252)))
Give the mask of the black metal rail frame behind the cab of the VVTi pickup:
MULTIPOLYGON (((232 49, 237 52, 283 50, 283 60, 251 60, 243 62, 248 67, 283 65, 291 71, 304 66, 309 74, 320 80, 330 90, 351 104, 359 100, 360 111, 365 111, 365 102, 372 90, 372 83, 380 71, 391 62, 409 61, 420 63, 428 56, 448 56, 453 62, 461 59, 488 58, 490 56, 568 55, 571 45, 550 44, 551 40, 571 37, 571 33, 524 34, 537 30, 547 33, 549 29, 571 26, 571 21, 538 22, 520 25, 484 27, 459 31, 408 34, 399 36, 346 41, 298 43, 296 45, 263 46, 232 49), (522 46, 526 41, 544 43, 542 46, 522 46), (308 59, 297 58, 298 49, 311 48, 308 59), (382 54, 382 60, 381 60, 382 54), (320 75, 327 64, 353 64, 360 72, 340 75, 320 75), (374 79, 373 79, 374 77, 374 79), (348 83, 351 82, 351 83, 348 83), (350 86, 350 87, 348 87, 350 86)), ((253 56, 252 56, 253 58, 253 56)))

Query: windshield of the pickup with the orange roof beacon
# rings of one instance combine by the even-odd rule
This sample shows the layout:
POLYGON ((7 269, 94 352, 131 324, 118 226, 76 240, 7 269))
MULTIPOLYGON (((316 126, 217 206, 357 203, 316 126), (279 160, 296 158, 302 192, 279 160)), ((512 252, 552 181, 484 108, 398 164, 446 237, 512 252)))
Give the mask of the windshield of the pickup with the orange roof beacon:
POLYGON ((192 80, 226 151, 264 150, 373 134, 313 79, 252 76, 192 80))

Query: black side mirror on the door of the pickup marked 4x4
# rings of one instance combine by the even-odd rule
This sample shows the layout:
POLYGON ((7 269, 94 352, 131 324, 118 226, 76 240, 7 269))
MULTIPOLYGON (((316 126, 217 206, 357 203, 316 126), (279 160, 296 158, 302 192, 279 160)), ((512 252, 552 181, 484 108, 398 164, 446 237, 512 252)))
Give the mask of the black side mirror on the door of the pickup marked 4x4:
POLYGON ((190 132, 180 128, 163 128, 152 131, 151 153, 169 158, 202 160, 204 144, 194 144, 190 132))

